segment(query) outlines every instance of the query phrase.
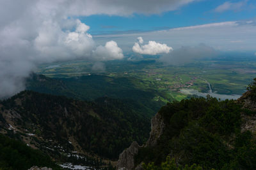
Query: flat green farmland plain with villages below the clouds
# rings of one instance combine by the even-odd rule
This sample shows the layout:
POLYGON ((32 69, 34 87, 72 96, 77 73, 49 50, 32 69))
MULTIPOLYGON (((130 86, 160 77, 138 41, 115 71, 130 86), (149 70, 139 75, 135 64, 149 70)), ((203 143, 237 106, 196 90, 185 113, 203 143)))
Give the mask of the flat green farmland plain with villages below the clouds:
POLYGON ((121 87, 153 90, 157 92, 153 100, 164 103, 188 97, 180 89, 208 92, 207 82, 214 93, 241 95, 256 76, 256 62, 253 60, 200 60, 183 66, 164 66, 157 59, 115 60, 104 62, 103 71, 92 71, 92 66, 93 62, 88 61, 60 62, 42 65, 37 73, 66 80, 73 89, 90 89, 88 85, 97 85, 98 81, 99 86, 104 85, 104 82, 115 84, 115 90, 121 87), (105 77, 99 80, 92 76, 105 77))

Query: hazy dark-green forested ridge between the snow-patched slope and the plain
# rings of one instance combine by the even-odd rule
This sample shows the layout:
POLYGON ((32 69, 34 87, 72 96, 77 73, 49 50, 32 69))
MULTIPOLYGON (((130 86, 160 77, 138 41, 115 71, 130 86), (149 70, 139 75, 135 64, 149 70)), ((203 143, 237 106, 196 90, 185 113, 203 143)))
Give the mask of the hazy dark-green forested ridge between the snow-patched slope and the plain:
POLYGON ((96 74, 75 78, 49 78, 31 74, 26 89, 83 101, 93 101, 99 97, 122 99, 129 101, 129 105, 138 113, 151 118, 164 103, 154 100, 154 97, 159 96, 156 91, 137 88, 134 85, 136 83, 140 83, 137 78, 112 78, 96 74))

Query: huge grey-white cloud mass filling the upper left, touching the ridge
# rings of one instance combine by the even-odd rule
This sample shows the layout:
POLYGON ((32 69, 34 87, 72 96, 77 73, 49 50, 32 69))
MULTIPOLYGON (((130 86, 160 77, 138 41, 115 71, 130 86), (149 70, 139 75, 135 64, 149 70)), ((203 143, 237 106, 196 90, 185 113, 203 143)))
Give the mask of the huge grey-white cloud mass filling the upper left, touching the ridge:
POLYGON ((90 26, 72 18, 70 7, 70 1, 0 1, 0 99, 23 90, 38 64, 124 57, 115 41, 96 46, 90 26))

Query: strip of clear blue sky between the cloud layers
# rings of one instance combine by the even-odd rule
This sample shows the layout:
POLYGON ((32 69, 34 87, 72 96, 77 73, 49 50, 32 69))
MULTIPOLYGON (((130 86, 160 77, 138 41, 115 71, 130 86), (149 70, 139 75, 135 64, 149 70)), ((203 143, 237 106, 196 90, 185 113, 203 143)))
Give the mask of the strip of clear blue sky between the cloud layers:
POLYGON ((120 34, 124 32, 141 32, 202 25, 216 22, 254 20, 256 2, 202 0, 195 1, 177 10, 158 14, 132 13, 128 16, 90 15, 78 17, 86 25, 90 25, 91 34, 120 34), (218 6, 227 3, 229 8, 216 11, 218 6))

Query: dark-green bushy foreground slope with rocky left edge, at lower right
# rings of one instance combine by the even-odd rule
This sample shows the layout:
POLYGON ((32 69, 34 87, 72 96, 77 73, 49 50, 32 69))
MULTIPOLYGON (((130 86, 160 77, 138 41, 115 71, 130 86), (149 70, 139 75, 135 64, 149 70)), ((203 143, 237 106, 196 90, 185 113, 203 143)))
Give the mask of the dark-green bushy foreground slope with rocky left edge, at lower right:
POLYGON ((256 112, 243 104, 212 97, 168 103, 152 118, 147 143, 131 145, 129 150, 137 152, 125 156, 130 160, 124 158, 124 151, 118 169, 140 169, 141 162, 160 166, 168 156, 183 167, 198 164, 203 169, 256 169, 256 112), (133 166, 125 162, 133 162, 133 166))

